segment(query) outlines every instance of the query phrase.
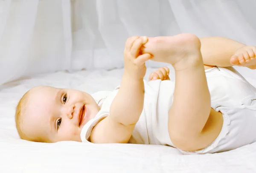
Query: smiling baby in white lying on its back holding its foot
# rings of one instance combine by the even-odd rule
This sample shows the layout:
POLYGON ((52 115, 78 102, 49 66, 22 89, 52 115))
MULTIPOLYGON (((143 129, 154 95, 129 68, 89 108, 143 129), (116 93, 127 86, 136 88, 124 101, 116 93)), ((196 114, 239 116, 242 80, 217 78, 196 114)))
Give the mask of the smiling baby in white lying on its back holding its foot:
POLYGON ((256 47, 223 37, 130 37, 112 92, 37 86, 17 105, 20 138, 37 142, 159 144, 216 153, 256 141, 256 88, 233 65, 256 69, 256 47), (170 63, 143 80, 145 61, 170 63))

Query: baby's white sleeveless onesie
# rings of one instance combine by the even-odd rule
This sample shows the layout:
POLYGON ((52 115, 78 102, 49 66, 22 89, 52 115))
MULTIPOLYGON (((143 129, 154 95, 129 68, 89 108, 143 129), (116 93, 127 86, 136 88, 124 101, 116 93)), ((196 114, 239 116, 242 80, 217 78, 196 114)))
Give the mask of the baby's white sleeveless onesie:
MULTIPOLYGON (((223 127, 208 147, 187 152, 216 153, 232 150, 256 141, 256 88, 232 67, 213 67, 205 70, 211 95, 211 107, 223 114, 223 127)), ((168 133, 168 112, 172 106, 175 81, 144 81, 144 108, 129 140, 132 144, 157 144, 175 147, 168 133)), ((188 86, 189 87, 189 86, 188 86)), ((96 102, 102 108, 81 131, 83 142, 90 140, 93 127, 109 115, 111 103, 119 87, 113 92, 96 92, 96 102)), ((196 99, 196 98, 195 98, 196 99)), ((186 105, 184 105, 186 108, 186 105)))

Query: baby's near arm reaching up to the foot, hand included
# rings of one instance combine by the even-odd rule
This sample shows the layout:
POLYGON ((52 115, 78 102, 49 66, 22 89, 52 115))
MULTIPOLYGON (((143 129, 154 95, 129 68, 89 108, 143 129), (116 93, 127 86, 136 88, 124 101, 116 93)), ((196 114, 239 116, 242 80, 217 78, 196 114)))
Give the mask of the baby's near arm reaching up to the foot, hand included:
POLYGON ((93 143, 127 143, 144 104, 145 61, 150 54, 140 55, 140 48, 146 37, 131 37, 125 43, 125 72, 120 89, 114 98, 110 115, 93 128, 90 140, 93 143))

